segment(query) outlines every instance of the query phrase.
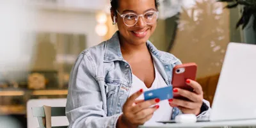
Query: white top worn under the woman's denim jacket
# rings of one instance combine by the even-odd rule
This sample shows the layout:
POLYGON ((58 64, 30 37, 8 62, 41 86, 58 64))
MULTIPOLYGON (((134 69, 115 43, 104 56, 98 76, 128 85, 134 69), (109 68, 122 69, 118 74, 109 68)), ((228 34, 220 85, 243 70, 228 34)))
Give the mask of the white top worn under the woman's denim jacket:
MULTIPOLYGON (((158 70, 156 67, 155 68, 155 72, 156 72, 156 77, 154 79, 154 82, 152 83, 152 86, 150 88, 147 88, 147 86, 145 85, 145 83, 143 83, 143 81, 141 81, 138 77, 136 77, 134 74, 132 74, 132 87, 129 93, 129 97, 135 93, 138 92, 138 90, 140 90, 141 88, 143 89, 143 92, 147 91, 147 90, 153 90, 156 88, 163 88, 166 87, 167 84, 164 82, 163 77, 161 76, 161 74, 159 74, 158 70)), ((144 95, 141 94, 140 97, 138 97, 137 100, 141 100, 144 99, 144 95)), ((158 103, 159 105, 159 109, 157 109, 154 113, 154 115, 152 116, 152 118, 150 120, 148 120, 147 122, 145 122, 144 125, 147 124, 157 124, 156 121, 163 121, 163 120, 170 120, 172 117, 172 107, 169 105, 168 100, 162 100, 158 103)))

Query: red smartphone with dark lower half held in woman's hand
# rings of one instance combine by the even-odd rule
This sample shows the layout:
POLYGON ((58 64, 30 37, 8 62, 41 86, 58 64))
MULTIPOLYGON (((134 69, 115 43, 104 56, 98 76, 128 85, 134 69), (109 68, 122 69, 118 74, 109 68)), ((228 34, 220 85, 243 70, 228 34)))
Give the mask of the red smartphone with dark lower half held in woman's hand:
MULTIPOLYGON (((172 85, 173 88, 182 88, 184 90, 188 90, 190 92, 193 92, 193 88, 186 84, 186 79, 191 79, 195 81, 196 79, 196 70, 197 65, 196 63, 184 63, 182 65, 177 65, 173 68, 173 74, 172 74, 172 85)), ((175 99, 182 99, 182 100, 188 100, 185 97, 182 97, 180 95, 175 95, 173 93, 173 98, 175 99)))

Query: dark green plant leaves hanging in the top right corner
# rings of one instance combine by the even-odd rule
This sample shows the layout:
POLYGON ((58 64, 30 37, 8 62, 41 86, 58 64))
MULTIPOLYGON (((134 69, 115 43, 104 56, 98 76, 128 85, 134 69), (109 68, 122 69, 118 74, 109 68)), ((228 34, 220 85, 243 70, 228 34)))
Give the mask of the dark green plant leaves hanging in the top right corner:
POLYGON ((248 44, 256 44, 256 0, 218 0, 227 3, 226 8, 241 6, 241 18, 236 28, 242 26, 244 39, 248 44), (245 29, 244 29, 245 28, 245 29))

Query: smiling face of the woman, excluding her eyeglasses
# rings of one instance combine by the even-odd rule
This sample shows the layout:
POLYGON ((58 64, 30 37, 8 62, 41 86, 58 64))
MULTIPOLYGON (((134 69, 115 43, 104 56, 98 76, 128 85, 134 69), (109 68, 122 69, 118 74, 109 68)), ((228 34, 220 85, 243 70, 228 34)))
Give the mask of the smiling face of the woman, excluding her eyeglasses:
MULTIPOLYGON (((117 10, 121 14, 136 13, 137 15, 148 11, 157 11, 155 0, 120 0, 117 10)), ((154 33, 157 24, 154 22, 154 24, 148 25, 144 22, 143 17, 140 17, 134 26, 126 26, 119 14, 117 14, 116 21, 122 39, 134 45, 147 42, 148 38, 154 33)))

